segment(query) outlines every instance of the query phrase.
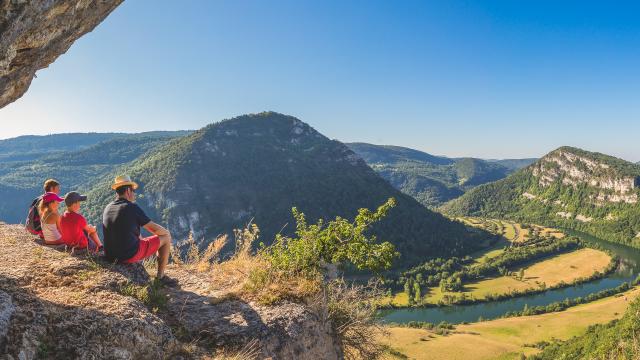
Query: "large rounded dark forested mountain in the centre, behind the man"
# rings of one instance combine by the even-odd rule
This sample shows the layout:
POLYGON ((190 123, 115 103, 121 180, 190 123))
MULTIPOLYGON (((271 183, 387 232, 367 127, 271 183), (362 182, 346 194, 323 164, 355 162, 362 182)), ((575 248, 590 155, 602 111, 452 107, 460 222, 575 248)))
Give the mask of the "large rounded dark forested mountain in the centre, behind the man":
MULTIPOLYGON (((253 221, 268 243, 295 230, 294 206, 315 222, 352 218, 393 197, 397 206, 374 231, 397 245, 403 265, 478 244, 465 226, 394 189, 344 144, 278 113, 211 124, 119 171, 140 182, 138 203, 176 239, 191 231, 206 242, 253 221)), ((93 221, 113 197, 111 181, 106 176, 89 192, 93 221)))

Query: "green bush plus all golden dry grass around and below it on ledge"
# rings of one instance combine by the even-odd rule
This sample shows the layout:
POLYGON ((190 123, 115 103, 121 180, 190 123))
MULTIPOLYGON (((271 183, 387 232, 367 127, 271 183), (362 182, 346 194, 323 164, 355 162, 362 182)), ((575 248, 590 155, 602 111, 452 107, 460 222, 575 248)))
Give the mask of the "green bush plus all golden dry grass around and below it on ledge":
MULTIPOLYGON (((212 288, 233 289, 234 296, 271 304, 302 301, 329 321, 347 358, 375 359, 385 347, 377 343, 383 330, 375 322, 375 302, 381 294, 375 284, 349 285, 329 270, 336 265, 381 271, 399 256, 388 242, 378 242, 367 231, 395 205, 389 199, 376 211, 360 209, 353 222, 336 217, 309 225, 293 209, 295 237, 278 236, 270 246, 253 254, 260 231, 254 224, 234 232, 236 252, 211 268, 212 288)), ((220 301, 221 299, 212 299, 220 301)))

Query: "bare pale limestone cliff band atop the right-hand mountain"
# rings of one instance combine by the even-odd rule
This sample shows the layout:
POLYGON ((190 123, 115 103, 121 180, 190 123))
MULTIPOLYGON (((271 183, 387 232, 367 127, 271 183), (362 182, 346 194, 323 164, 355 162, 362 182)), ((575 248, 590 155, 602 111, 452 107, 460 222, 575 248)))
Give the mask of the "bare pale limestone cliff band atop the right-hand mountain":
POLYGON ((598 193, 591 196, 595 202, 638 202, 636 190, 640 187, 640 177, 625 175, 602 160, 577 154, 567 148, 558 149, 535 163, 532 174, 543 187, 560 181, 574 188, 586 185, 597 189, 598 193))

